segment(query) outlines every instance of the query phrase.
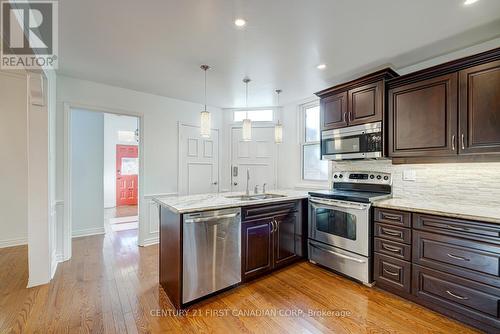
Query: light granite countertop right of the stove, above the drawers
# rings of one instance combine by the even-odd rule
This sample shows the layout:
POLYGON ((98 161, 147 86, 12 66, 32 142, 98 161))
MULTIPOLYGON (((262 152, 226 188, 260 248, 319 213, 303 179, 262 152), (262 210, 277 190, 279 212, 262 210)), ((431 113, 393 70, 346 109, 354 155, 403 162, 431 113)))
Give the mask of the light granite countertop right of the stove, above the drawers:
POLYGON ((464 203, 443 199, 426 200, 393 197, 376 201, 373 203, 373 206, 500 224, 500 203, 497 206, 485 206, 470 202, 464 203))

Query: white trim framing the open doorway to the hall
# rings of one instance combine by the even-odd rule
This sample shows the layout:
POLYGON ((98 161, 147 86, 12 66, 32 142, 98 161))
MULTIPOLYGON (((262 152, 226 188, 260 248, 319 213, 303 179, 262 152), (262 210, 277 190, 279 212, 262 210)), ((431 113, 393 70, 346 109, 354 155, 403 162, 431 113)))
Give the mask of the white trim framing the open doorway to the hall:
MULTIPOLYGON (((137 243, 139 246, 144 244, 144 235, 147 226, 145 226, 145 205, 144 199, 144 114, 141 112, 120 110, 120 109, 110 109, 106 107, 100 107, 95 105, 87 105, 76 102, 64 102, 64 222, 62 229, 62 240, 63 240, 63 251, 62 257, 63 261, 71 259, 71 241, 72 241, 72 223, 71 223, 71 134, 70 134, 70 124, 71 124, 71 109, 84 109, 87 111, 102 112, 115 115, 126 115, 137 117, 139 120, 139 233, 137 243)), ((104 217, 103 217, 104 219, 104 217)))

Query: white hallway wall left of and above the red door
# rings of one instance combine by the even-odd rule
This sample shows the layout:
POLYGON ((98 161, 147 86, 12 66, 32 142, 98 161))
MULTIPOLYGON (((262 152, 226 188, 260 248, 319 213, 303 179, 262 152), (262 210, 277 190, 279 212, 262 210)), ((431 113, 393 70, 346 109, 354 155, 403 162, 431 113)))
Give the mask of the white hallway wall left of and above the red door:
POLYGON ((116 206, 116 145, 137 145, 136 141, 120 141, 118 131, 135 132, 137 117, 104 114, 104 208, 116 206))

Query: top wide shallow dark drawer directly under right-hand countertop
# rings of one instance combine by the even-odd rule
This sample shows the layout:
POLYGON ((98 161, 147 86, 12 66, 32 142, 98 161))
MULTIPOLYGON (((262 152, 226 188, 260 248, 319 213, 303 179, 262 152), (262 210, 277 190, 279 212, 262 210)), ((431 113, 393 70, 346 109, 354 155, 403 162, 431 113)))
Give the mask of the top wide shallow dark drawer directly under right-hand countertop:
POLYGON ((500 243, 500 225, 495 224, 414 213, 413 228, 480 241, 488 240, 490 242, 500 243))

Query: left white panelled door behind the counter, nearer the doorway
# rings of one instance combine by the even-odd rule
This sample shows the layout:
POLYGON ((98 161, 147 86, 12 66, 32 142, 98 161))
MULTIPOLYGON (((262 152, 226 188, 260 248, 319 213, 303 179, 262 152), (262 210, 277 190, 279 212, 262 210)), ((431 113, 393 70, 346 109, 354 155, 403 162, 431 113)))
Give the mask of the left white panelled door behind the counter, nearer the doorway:
POLYGON ((197 126, 179 126, 179 194, 219 192, 219 131, 200 136, 197 126))

